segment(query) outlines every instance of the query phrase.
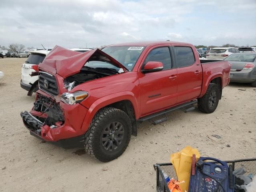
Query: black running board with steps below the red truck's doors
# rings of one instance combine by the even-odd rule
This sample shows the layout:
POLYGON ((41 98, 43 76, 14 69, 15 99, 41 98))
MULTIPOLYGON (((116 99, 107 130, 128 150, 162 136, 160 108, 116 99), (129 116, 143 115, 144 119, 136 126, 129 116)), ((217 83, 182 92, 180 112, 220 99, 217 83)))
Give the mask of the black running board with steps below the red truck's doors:
MULTIPOLYGON (((190 102, 178 105, 176 107, 168 108, 166 110, 162 110, 162 111, 157 112, 155 114, 151 114, 151 115, 142 117, 142 118, 138 119, 138 122, 143 122, 143 121, 151 120, 152 118, 158 117, 160 115, 164 115, 164 114, 166 114, 168 112, 172 112, 172 111, 177 110, 177 109, 184 108, 184 110, 186 110, 186 112, 188 112, 188 111, 191 111, 191 110, 195 109, 194 106, 192 106, 195 103, 197 103, 197 100, 193 100, 193 101, 190 101, 190 102)), ((158 124, 158 123, 161 123, 161 122, 166 121, 166 120, 167 120, 167 115, 166 115, 166 118, 162 118, 162 119, 159 119, 159 120, 156 120, 156 121, 151 120, 151 122, 154 122, 155 124, 158 124)))

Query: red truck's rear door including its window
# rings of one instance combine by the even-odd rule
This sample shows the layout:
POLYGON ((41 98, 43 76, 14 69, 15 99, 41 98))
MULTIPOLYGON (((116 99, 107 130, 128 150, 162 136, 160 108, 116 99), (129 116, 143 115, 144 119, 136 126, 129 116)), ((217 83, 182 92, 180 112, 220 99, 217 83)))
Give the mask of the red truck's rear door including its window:
POLYGON ((197 98, 201 92, 202 67, 192 47, 188 45, 172 45, 178 72, 177 103, 197 98))

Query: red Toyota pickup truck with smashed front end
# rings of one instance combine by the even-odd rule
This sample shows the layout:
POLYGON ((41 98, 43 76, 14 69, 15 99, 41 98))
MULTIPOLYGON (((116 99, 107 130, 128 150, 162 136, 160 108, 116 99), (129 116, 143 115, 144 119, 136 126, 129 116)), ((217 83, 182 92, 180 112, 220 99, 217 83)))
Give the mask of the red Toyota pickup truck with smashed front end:
POLYGON ((124 43, 85 53, 55 46, 39 64, 34 106, 21 117, 30 134, 65 148, 83 143, 108 162, 126 150, 139 122, 163 122, 167 112, 195 103, 214 112, 229 72, 228 62, 200 61, 187 43, 124 43))

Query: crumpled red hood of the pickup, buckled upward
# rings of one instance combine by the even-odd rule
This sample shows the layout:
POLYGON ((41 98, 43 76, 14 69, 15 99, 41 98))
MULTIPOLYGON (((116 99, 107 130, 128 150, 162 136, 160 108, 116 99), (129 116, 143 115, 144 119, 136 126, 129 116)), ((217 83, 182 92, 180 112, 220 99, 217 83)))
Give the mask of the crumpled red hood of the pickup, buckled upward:
POLYGON ((38 68, 50 74, 59 74, 63 78, 66 78, 80 72, 86 61, 93 54, 101 54, 106 56, 112 64, 122 68, 124 72, 128 71, 128 69, 120 64, 117 60, 99 49, 81 53, 68 50, 57 45, 50 51, 48 55, 46 55, 44 61, 38 65, 38 68))

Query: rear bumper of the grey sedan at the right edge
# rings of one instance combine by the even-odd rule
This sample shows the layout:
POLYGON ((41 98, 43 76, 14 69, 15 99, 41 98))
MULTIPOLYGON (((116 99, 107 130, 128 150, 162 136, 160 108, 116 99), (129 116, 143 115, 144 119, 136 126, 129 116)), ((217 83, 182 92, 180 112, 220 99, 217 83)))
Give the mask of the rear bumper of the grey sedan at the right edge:
POLYGON ((256 81, 256 70, 250 70, 248 72, 230 72, 230 82, 238 83, 252 83, 256 81))

